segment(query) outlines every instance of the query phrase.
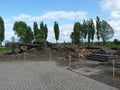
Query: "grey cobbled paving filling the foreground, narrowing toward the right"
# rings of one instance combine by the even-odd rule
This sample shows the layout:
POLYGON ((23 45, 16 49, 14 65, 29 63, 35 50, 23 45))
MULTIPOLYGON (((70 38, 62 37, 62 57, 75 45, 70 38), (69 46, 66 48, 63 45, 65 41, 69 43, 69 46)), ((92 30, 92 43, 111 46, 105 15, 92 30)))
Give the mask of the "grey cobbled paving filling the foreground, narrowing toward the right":
POLYGON ((0 90, 119 90, 54 62, 0 62, 0 90))

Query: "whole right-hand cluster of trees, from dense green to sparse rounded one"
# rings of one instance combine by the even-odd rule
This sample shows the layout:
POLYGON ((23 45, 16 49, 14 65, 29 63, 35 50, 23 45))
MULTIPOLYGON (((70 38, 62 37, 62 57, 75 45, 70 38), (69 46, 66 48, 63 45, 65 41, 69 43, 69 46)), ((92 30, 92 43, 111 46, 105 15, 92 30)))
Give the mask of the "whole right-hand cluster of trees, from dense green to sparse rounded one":
POLYGON ((105 43, 108 39, 113 37, 114 30, 107 21, 100 21, 100 18, 97 16, 95 22, 96 25, 94 24, 93 19, 84 20, 82 24, 76 22, 74 24, 73 32, 70 35, 72 42, 79 44, 84 39, 85 41, 88 40, 88 43, 90 43, 91 41, 93 42, 96 35, 98 42, 101 39, 103 43, 105 43))

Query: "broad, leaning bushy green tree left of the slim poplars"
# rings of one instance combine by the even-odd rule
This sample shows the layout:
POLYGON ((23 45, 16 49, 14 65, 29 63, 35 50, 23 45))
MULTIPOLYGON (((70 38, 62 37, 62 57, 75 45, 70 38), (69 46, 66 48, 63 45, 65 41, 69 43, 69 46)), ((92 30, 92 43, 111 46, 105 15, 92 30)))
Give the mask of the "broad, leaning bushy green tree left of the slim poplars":
POLYGON ((31 43, 33 40, 33 32, 30 27, 23 21, 15 22, 13 27, 14 32, 19 37, 22 43, 31 43), (29 36, 28 36, 29 35, 29 36))

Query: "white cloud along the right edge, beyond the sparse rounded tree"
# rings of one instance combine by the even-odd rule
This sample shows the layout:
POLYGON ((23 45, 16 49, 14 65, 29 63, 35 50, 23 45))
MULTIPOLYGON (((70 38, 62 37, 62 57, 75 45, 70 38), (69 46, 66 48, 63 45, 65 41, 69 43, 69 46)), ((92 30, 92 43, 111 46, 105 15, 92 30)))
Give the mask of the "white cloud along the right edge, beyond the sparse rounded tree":
POLYGON ((113 39, 117 38, 120 40, 120 0, 102 0, 100 6, 102 10, 110 14, 108 23, 115 31, 113 39))

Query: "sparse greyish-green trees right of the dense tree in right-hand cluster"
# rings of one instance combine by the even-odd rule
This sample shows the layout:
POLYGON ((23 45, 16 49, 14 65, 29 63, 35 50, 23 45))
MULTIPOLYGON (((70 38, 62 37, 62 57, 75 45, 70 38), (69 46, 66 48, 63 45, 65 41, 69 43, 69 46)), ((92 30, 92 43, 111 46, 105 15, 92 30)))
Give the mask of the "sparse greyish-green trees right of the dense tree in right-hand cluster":
POLYGON ((113 28, 105 21, 100 21, 100 18, 96 17, 96 30, 95 25, 93 23, 93 19, 84 20, 82 24, 82 36, 86 40, 86 37, 88 39, 88 43, 93 42, 94 36, 96 33, 97 40, 99 42, 100 39, 103 40, 103 42, 106 42, 108 39, 112 38, 114 35, 113 28))

